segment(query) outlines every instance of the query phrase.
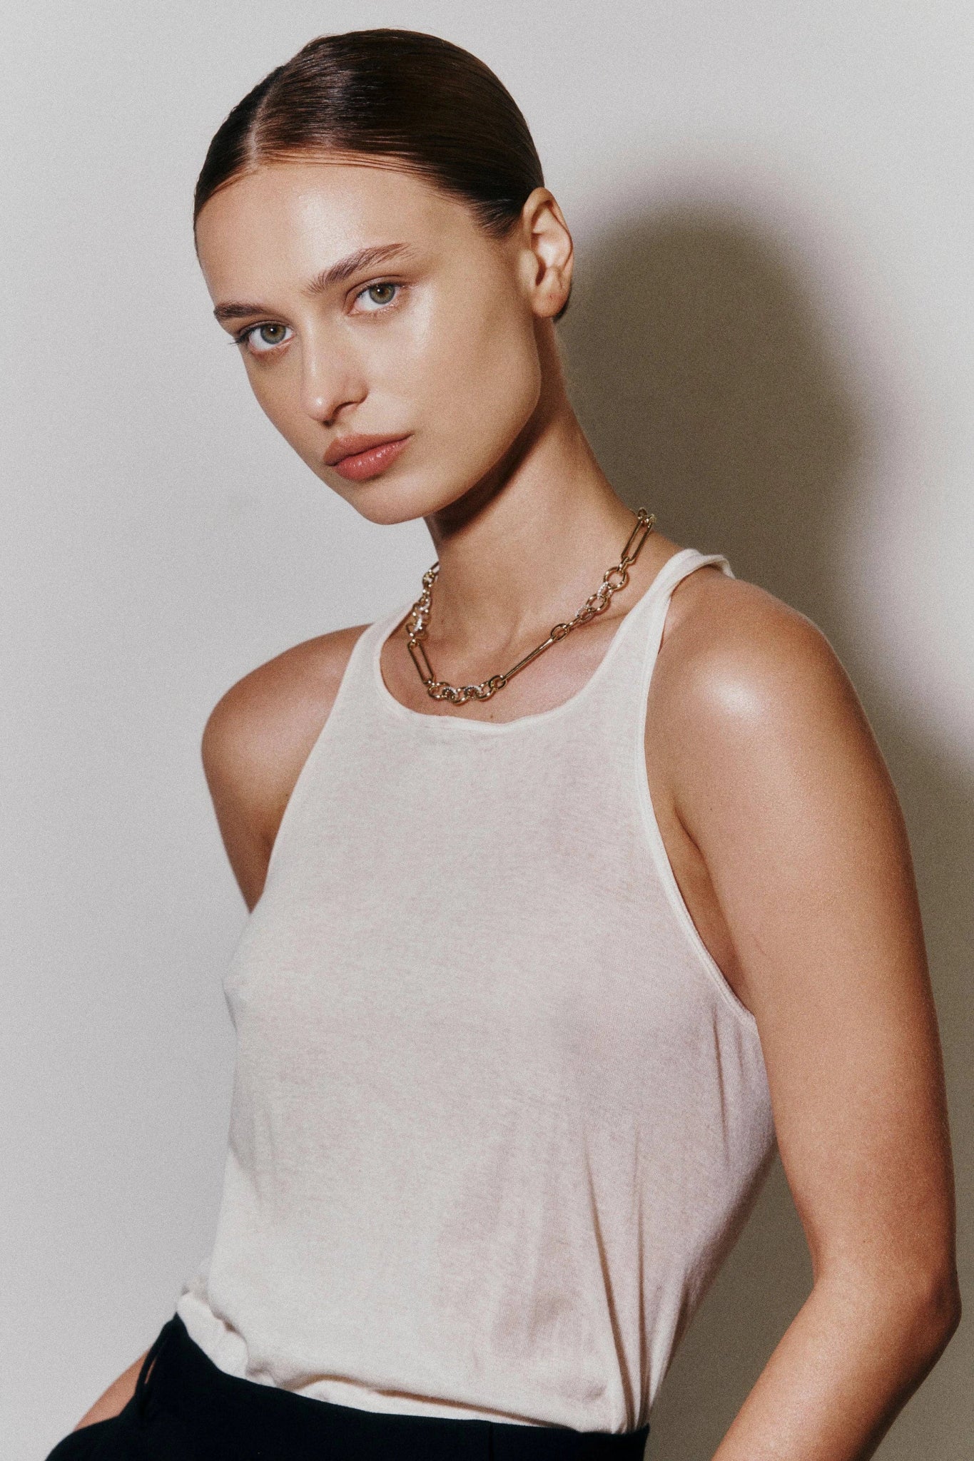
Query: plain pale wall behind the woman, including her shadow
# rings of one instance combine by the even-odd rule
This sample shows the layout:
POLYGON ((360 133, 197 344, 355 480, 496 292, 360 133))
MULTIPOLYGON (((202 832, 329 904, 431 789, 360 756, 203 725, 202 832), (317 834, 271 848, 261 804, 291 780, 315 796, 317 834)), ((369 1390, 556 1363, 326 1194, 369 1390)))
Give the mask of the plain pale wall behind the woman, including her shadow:
MULTIPOLYGON (((286 644, 409 598, 432 557, 275 437, 190 238, 232 102, 311 35, 372 23, 469 45, 523 105, 577 231, 565 349, 613 481, 808 612, 854 678, 913 836, 970 1281, 970 9, 37 0, 6 20, 0 96, 10 1461, 146 1347, 212 1235, 244 910, 206 713, 286 644)), ((808 1281, 778 1170, 651 1457, 707 1461, 808 1281)), ((970 1328, 883 1461, 970 1455, 970 1328)))

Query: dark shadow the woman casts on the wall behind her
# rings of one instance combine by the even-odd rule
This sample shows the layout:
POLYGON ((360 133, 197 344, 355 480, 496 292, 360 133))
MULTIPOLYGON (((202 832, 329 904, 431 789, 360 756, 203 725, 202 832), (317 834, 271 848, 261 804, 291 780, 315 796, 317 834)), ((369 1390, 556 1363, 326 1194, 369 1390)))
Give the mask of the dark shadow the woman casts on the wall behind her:
MULTIPOLYGON (((654 511, 678 543, 724 552, 737 577, 806 614, 856 684, 910 827, 967 1214, 974 783, 902 716, 840 592, 873 430, 856 383, 834 362, 809 291, 777 247, 758 226, 697 209, 654 213, 588 245, 561 332, 578 416, 625 501, 654 511)), ((962 1224, 962 1283, 968 1255, 962 1224)), ((809 1286, 775 1161, 667 1375, 648 1457, 710 1461, 809 1286)), ((883 1461, 968 1455, 968 1328, 894 1424, 883 1461)))

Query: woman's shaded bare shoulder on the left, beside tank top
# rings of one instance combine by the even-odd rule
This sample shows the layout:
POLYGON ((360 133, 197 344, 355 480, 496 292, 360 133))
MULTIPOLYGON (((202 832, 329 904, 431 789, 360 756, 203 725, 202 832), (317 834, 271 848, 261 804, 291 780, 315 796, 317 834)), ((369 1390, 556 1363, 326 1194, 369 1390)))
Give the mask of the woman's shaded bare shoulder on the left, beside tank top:
POLYGON ((250 909, 261 894, 291 792, 362 630, 323 634, 277 655, 232 685, 206 723, 206 782, 250 909))

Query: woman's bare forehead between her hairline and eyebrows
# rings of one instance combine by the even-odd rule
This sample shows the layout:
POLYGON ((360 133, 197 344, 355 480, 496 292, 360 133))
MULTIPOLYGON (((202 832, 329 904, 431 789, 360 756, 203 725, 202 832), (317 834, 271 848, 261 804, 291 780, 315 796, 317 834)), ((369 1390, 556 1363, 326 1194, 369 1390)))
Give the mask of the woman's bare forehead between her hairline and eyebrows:
POLYGON ((359 248, 429 248, 479 232, 460 200, 415 172, 312 159, 226 184, 200 210, 196 243, 210 292, 223 292, 315 273, 359 248))

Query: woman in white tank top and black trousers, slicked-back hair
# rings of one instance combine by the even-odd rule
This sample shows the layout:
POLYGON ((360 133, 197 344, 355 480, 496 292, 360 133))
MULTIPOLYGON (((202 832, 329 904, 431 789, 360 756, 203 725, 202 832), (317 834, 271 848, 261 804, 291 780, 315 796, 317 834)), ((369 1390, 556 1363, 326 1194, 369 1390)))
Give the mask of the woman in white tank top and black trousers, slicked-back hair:
POLYGON ((261 408, 438 568, 207 723, 253 910, 218 1232, 53 1457, 638 1457, 775 1143, 813 1287, 714 1461, 870 1455, 958 1321, 954 1197, 832 650, 599 469, 571 237, 467 53, 312 41, 216 133, 196 241, 261 408))

